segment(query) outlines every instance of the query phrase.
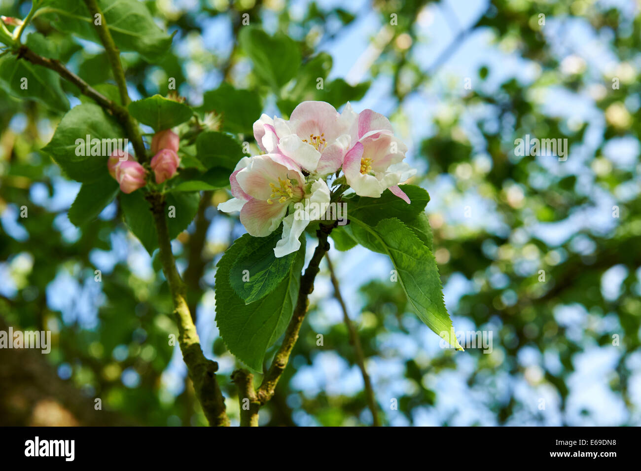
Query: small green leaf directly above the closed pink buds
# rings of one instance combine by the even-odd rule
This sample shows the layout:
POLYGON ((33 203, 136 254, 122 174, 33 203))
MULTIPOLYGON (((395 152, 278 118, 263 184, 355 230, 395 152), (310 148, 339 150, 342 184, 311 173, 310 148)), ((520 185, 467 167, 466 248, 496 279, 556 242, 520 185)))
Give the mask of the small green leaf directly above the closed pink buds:
POLYGON ((142 124, 151 126, 156 132, 178 126, 194 115, 192 109, 186 104, 160 95, 132 101, 128 109, 131 116, 142 124))

